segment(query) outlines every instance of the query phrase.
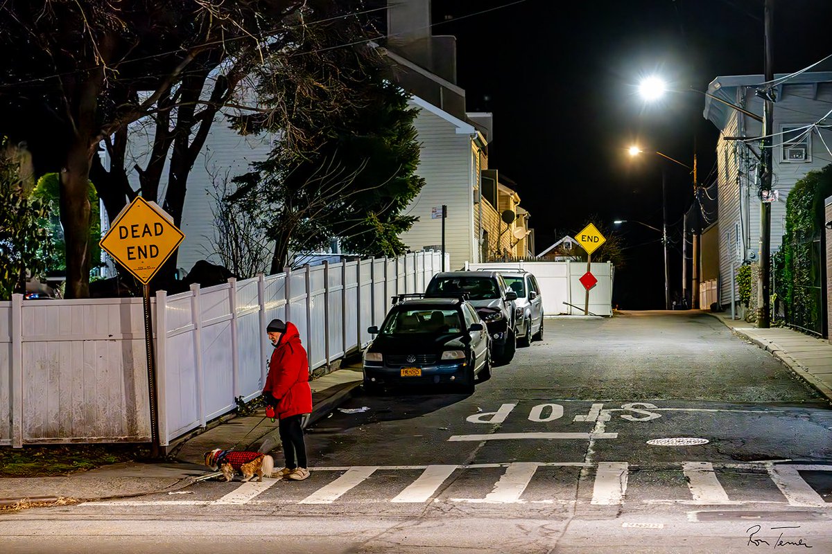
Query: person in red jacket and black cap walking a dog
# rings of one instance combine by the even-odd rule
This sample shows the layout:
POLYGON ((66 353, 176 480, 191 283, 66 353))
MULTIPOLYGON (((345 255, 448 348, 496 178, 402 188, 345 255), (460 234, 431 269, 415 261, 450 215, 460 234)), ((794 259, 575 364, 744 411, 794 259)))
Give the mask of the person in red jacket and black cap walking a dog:
POLYGON ((266 327, 269 340, 275 346, 269 360, 269 375, 263 396, 266 404, 275 409, 280 418, 280 442, 286 467, 280 477, 303 481, 310 476, 306 468, 306 444, 301 421, 312 412, 309 360, 300 344, 298 328, 291 322, 272 320, 266 327))

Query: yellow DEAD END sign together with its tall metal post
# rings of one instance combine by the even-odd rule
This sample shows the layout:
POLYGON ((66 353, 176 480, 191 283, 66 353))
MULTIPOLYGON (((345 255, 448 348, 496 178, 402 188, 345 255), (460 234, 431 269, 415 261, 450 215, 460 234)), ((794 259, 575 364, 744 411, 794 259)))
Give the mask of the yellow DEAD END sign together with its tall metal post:
POLYGON ((142 284, 141 305, 145 319, 147 387, 151 409, 151 458, 159 457, 160 446, 150 282, 185 238, 185 234, 176 228, 172 220, 156 203, 149 203, 137 196, 121 210, 110 230, 98 243, 102 250, 142 284))

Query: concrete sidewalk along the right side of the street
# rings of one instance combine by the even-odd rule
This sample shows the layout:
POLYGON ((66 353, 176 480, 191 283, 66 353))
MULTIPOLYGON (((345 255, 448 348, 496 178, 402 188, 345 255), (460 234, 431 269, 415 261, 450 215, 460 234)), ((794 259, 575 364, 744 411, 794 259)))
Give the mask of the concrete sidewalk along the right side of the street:
POLYGON ((731 331, 765 349, 832 401, 832 344, 784 327, 758 329, 744 320, 731 320, 730 314, 711 313, 731 331))

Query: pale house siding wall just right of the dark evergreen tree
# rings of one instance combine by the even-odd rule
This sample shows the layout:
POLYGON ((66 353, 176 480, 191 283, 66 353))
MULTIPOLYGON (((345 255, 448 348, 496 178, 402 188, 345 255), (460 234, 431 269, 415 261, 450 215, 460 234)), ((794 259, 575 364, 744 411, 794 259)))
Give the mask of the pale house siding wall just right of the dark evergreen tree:
POLYGON ((445 249, 450 254, 450 268, 463 267, 473 259, 471 137, 458 135, 453 123, 424 109, 419 110, 414 126, 421 147, 416 171, 424 179, 424 186, 404 210, 418 221, 402 233, 401 239, 412 251, 438 248, 442 243, 442 220, 430 215, 431 208, 444 204, 448 206, 445 249))

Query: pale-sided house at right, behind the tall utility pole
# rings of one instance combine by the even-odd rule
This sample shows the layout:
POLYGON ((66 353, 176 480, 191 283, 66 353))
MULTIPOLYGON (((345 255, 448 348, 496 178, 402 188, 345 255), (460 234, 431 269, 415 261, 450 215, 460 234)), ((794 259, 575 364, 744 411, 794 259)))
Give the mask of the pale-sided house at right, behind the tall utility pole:
MULTIPOLYGON (((775 75, 771 252, 776 252, 785 233, 785 202, 795 183, 813 169, 830 164, 832 133, 815 125, 832 109, 832 72, 775 75)), ((720 76, 708 93, 762 115, 763 100, 755 95, 765 81, 761 75, 720 76)), ((716 145, 719 222, 716 240, 706 248, 719 248, 719 302, 730 305, 731 265, 754 262, 760 257, 760 121, 720 101, 707 98, 703 115, 720 130, 716 145), (756 140, 755 140, 756 139, 756 140), (710 245, 710 247, 709 247, 710 245)), ((711 229, 709 233, 713 233, 711 229)), ((703 282, 703 285, 705 283, 703 282)), ((735 297, 738 292, 735 290, 735 297)))

